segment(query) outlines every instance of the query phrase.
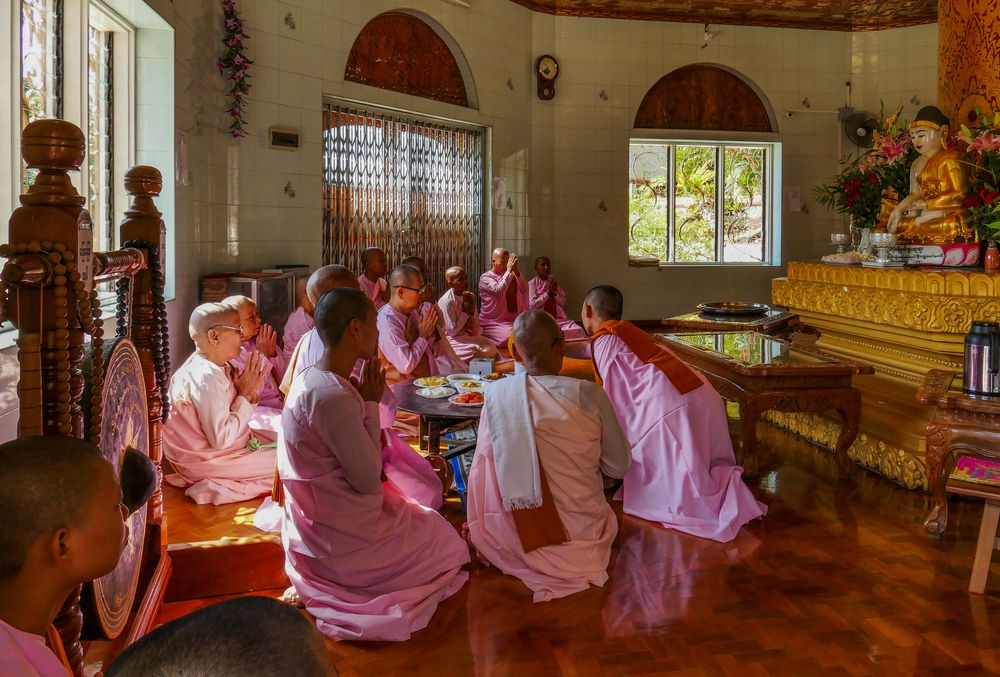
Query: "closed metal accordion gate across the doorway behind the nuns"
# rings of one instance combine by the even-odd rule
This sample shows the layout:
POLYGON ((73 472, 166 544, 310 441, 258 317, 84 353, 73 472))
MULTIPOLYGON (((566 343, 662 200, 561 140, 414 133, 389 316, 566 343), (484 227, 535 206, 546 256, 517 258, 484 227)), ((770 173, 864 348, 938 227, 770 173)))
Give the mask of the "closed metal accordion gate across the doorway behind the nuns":
POLYGON ((361 271, 383 249, 390 269, 420 256, 437 293, 444 271, 482 273, 482 128, 328 102, 323 107, 323 262, 361 271))

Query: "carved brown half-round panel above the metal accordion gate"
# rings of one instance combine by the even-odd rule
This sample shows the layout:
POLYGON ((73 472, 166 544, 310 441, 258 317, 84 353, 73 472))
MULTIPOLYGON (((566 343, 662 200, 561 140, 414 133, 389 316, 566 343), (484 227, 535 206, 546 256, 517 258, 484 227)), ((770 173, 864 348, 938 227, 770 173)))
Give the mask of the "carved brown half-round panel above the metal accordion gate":
POLYGON ((386 12, 368 22, 344 79, 457 106, 469 105, 462 70, 445 41, 419 18, 386 12))

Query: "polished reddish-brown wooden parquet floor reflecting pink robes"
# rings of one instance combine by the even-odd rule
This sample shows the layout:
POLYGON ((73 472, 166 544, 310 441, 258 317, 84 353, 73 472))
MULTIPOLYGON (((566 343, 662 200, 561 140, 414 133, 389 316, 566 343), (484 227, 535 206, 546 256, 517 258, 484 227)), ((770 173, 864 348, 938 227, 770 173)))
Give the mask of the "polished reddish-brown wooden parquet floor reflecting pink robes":
MULTIPOLYGON (((828 452, 769 426, 761 440, 751 485, 768 514, 734 542, 624 516, 604 588, 533 604, 516 579, 472 566, 410 641, 330 641, 331 659, 341 675, 1000 672, 1000 561, 986 596, 966 592, 981 502, 953 502, 933 539, 928 496, 869 473, 838 482, 828 452)), ((252 535, 253 507, 169 493, 170 540, 252 535)), ((445 514, 462 520, 454 503, 445 514)), ((168 604, 160 620, 212 601, 168 604)))

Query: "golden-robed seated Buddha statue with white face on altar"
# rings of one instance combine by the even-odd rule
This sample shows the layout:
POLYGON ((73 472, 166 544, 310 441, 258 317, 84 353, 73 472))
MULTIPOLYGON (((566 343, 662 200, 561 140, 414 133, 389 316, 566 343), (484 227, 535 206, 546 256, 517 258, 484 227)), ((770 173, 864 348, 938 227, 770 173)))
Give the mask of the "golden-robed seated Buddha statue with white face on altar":
POLYGON ((920 157, 910 167, 910 194, 889 216, 888 230, 899 244, 975 242, 976 230, 962 206, 969 192, 969 170, 961 153, 945 148, 948 118, 924 106, 910 123, 910 139, 920 157))

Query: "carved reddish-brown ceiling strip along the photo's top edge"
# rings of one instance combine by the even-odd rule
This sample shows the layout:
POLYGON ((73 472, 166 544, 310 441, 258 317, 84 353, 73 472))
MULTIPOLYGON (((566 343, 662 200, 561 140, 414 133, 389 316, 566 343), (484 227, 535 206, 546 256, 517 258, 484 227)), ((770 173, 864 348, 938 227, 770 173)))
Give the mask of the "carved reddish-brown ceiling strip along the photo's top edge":
MULTIPOLYGON (((961 2, 962 0, 958 0, 961 2)), ((513 0, 536 12, 736 26, 865 31, 934 23, 936 0, 513 0)))

